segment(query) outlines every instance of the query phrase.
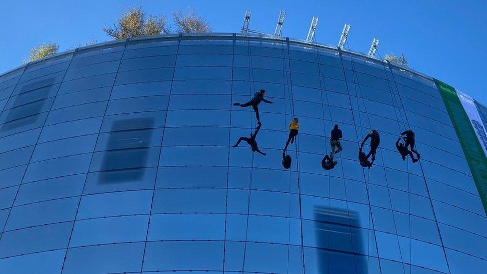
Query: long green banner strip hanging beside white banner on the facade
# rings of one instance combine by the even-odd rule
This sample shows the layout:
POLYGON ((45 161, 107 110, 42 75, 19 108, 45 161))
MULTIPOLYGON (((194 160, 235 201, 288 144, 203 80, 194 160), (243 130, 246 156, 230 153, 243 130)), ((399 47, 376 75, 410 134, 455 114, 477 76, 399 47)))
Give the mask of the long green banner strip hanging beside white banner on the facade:
POLYGON ((452 86, 435 79, 448 114, 452 119, 458 139, 469 163, 470 171, 487 214, 487 157, 477 138, 470 118, 458 98, 457 91, 452 86))

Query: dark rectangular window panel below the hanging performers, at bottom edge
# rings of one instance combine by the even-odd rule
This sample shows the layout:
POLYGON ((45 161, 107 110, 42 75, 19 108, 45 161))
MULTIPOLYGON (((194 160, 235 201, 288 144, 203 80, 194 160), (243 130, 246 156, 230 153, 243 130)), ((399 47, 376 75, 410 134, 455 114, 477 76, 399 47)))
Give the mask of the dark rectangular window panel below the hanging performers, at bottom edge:
POLYGON ((317 264, 320 274, 367 274, 357 212, 314 207, 317 264))

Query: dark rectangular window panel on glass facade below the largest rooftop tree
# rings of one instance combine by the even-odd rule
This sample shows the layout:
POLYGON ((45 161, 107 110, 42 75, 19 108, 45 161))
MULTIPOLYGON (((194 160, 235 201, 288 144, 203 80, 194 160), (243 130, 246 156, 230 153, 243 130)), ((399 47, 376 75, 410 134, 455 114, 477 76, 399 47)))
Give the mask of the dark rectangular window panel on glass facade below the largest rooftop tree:
POLYGON ((144 178, 153 127, 154 118, 113 122, 98 183, 140 181, 144 178))

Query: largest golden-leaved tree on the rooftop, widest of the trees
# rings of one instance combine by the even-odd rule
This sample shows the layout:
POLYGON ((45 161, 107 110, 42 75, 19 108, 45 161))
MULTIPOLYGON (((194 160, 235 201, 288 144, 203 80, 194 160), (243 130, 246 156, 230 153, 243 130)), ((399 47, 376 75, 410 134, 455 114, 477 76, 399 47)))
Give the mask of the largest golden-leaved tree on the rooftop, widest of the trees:
POLYGON ((126 39, 169 33, 166 28, 166 16, 146 14, 142 6, 122 12, 112 27, 103 27, 103 31, 115 39, 126 39))

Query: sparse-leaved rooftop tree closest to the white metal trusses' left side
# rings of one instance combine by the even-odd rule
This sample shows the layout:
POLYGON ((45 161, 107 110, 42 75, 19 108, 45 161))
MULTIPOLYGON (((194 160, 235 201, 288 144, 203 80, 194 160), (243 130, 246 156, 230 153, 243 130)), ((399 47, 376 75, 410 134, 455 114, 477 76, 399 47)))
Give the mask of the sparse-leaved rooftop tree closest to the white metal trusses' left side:
POLYGON ((178 32, 195 33, 212 31, 210 22, 199 15, 194 8, 189 8, 188 12, 181 10, 174 11, 173 19, 178 32))

